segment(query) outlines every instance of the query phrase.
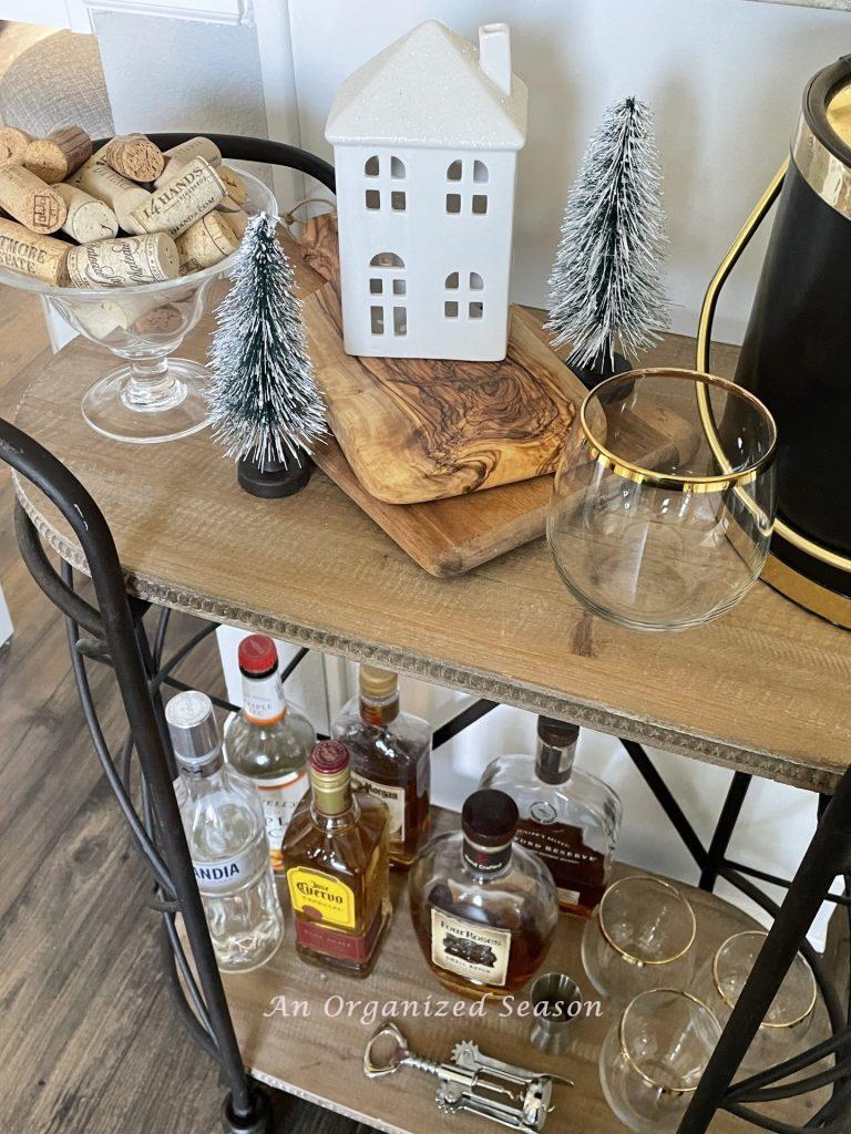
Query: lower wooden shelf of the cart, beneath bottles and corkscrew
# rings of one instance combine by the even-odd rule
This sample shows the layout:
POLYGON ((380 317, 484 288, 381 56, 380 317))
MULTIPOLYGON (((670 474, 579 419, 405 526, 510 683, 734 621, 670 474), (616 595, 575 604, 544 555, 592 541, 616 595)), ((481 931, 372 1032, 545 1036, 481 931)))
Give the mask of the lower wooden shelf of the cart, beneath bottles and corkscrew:
MULTIPOLYGON (((616 877, 629 873, 643 872, 625 865, 615 868, 616 877)), ((697 916, 698 968, 731 933, 755 928, 752 919, 723 899, 676 885, 691 900, 697 916)), ((506 1008, 496 1002, 488 1005, 482 1018, 470 1018, 473 1001, 444 990, 422 957, 411 924, 404 878, 394 877, 394 922, 369 979, 326 973, 302 962, 293 946, 292 915, 285 942, 269 964, 253 973, 226 976, 236 1034, 252 1075, 388 1134, 494 1134, 498 1127, 485 1119, 440 1114, 435 1105, 437 1084, 428 1076, 401 1070, 387 1078, 365 1078, 365 1043, 382 1019, 394 1014, 419 1055, 444 1060, 460 1040, 473 1039, 487 1055, 574 1080, 574 1089, 556 1091, 556 1110, 547 1127, 554 1134, 614 1134, 624 1129, 603 1098, 597 1070, 600 1046, 616 1018, 616 1009, 604 1005, 599 1018, 578 1017, 570 1048, 558 1057, 541 1055, 528 1042, 529 1018, 508 1016, 506 1008), (418 1002, 420 1015, 405 1015, 405 1001, 418 1002), (424 1015, 427 1005, 433 1015, 424 1015)), ((584 922, 575 917, 561 920, 546 970, 570 973, 584 998, 596 999, 580 959, 583 926, 584 922)), ((515 1008, 522 999, 523 995, 517 997, 515 1008)), ((820 1002, 808 1042, 828 1034, 820 1002)), ((827 1097, 821 1091, 776 1103, 773 1112, 786 1122, 803 1123, 827 1097)), ((753 1127, 722 1115, 711 1129, 732 1134, 753 1127)))

